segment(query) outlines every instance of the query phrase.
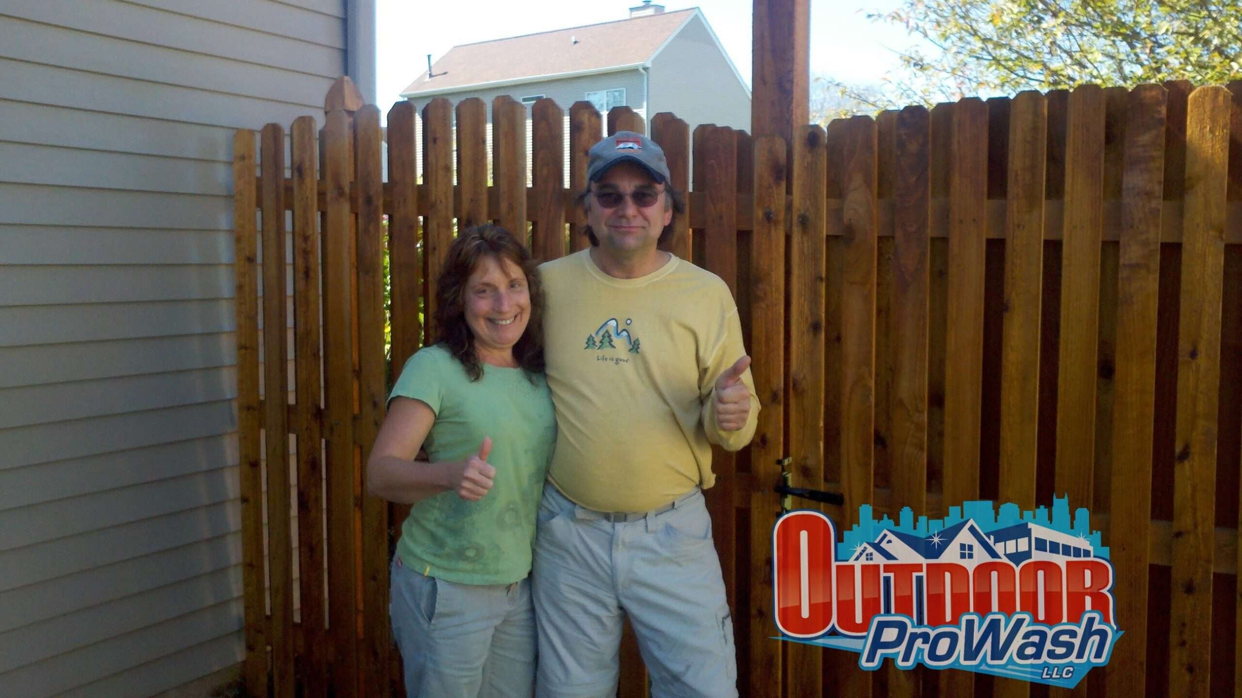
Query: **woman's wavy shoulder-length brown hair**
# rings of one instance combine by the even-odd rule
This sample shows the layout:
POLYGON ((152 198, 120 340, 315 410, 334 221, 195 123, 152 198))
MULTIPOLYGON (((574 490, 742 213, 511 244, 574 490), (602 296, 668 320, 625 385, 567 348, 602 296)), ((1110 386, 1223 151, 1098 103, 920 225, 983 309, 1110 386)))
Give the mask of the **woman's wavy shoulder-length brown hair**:
POLYGON ((527 330, 513 347, 513 358, 527 373, 543 373, 544 294, 538 265, 524 245, 497 225, 483 224, 466 229, 448 246, 448 255, 436 286, 436 327, 440 330, 440 343, 461 361, 472 381, 483 378, 483 364, 474 353, 474 333, 466 323, 465 298, 469 274, 474 273, 484 257, 508 260, 527 274, 530 318, 527 320, 527 330))

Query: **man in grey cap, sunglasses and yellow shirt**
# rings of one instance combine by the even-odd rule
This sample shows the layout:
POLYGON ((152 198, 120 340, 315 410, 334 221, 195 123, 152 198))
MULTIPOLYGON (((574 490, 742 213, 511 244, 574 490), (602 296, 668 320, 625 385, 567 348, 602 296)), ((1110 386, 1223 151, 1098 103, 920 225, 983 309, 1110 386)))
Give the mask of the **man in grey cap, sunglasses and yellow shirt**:
POLYGON ((658 250, 684 211, 664 154, 621 132, 591 148, 591 247, 540 267, 559 435, 539 510, 537 694, 615 696, 628 616, 652 696, 737 696, 733 620, 702 489, 759 400, 719 277, 658 250))

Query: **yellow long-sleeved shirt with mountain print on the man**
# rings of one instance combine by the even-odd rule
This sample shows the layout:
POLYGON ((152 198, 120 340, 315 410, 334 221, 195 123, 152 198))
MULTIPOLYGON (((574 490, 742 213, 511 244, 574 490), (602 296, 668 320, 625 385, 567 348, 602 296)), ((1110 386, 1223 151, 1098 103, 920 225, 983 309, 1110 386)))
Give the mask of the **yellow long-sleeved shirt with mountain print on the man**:
POLYGON ((741 448, 759 416, 749 369, 746 425, 723 431, 712 410, 717 378, 745 355, 729 287, 677 257, 632 279, 605 274, 589 250, 539 271, 559 427, 551 483, 601 512, 646 512, 712 487, 710 443, 741 448))

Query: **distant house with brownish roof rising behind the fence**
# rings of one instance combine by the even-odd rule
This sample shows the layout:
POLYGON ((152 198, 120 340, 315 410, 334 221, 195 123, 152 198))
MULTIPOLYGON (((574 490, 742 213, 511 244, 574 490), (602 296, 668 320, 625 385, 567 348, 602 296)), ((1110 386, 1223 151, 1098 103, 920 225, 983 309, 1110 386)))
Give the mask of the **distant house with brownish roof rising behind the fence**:
MULTIPOLYGON (((703 11, 668 12, 651 0, 623 20, 455 46, 401 93, 420 111, 436 97, 453 104, 478 97, 491 111, 502 94, 528 104, 551 98, 565 111, 566 134, 569 108, 580 101, 601 114, 630 107, 648 120, 672 112, 692 129, 750 128, 750 88, 703 11)), ((568 137, 565 149, 568 159, 568 137)))

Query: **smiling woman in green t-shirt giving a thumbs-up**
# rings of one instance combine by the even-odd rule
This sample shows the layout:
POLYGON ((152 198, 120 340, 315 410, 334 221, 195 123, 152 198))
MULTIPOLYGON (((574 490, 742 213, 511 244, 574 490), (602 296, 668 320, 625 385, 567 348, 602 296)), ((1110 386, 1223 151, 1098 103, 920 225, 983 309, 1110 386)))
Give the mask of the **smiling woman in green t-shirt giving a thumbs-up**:
POLYGON ((492 225, 458 236, 436 292, 441 340, 406 363, 366 462, 371 494, 414 504, 390 606, 411 697, 533 692, 527 578, 556 441, 542 314, 522 243, 492 225))

